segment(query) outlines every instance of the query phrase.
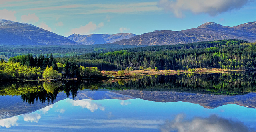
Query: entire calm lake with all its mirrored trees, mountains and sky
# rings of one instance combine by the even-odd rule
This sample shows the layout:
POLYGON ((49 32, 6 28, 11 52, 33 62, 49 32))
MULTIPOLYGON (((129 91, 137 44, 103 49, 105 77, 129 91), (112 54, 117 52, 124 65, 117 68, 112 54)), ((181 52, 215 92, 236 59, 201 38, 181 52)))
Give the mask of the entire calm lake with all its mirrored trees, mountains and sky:
POLYGON ((255 73, 1 82, 0 94, 0 131, 256 131, 255 73))

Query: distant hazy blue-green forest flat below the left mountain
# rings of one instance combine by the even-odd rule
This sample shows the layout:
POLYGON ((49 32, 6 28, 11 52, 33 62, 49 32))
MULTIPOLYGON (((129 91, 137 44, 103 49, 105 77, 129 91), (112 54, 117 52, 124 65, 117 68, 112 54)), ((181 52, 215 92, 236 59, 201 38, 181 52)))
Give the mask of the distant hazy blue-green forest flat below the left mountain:
POLYGON ((8 61, 10 57, 18 55, 33 54, 40 56, 41 54, 51 54, 54 57, 65 57, 72 55, 83 55, 84 53, 96 52, 111 52, 121 49, 132 48, 136 46, 129 45, 114 45, 114 44, 100 44, 100 45, 61 45, 61 46, 4 46, 0 48, 0 58, 8 61))

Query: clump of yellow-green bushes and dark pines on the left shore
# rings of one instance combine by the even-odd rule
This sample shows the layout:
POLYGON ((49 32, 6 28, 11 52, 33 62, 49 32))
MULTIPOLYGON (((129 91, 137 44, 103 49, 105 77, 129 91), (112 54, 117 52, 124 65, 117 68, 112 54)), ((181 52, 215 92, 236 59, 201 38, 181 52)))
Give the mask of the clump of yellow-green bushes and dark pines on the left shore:
POLYGON ((33 57, 32 54, 0 61, 0 80, 5 79, 61 79, 101 76, 97 67, 78 67, 76 61, 56 63, 52 54, 33 57))

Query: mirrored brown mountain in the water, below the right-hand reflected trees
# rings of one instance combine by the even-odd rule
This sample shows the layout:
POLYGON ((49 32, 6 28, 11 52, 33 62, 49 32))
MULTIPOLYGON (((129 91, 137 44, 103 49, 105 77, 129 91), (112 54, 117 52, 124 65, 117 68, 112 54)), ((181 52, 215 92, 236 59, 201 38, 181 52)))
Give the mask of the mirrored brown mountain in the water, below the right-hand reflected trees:
POLYGON ((199 93, 185 93, 172 91, 138 91, 124 90, 114 91, 122 95, 130 95, 134 98, 149 100, 154 102, 190 102, 199 104, 204 108, 217 108, 226 104, 236 104, 249 108, 256 108, 256 93, 248 93, 246 95, 210 95, 199 93))

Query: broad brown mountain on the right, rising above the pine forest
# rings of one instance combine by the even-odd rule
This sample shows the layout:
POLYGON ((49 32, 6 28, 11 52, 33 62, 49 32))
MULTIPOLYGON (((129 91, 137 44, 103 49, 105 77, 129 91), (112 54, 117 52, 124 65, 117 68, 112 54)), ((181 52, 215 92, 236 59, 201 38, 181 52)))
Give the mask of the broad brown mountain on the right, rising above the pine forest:
POLYGON ((222 26, 214 22, 206 22, 197 28, 182 31, 154 31, 117 41, 119 45, 174 45, 200 41, 222 39, 243 39, 256 41, 256 22, 248 22, 234 27, 222 26))

